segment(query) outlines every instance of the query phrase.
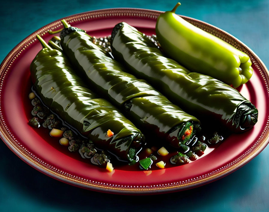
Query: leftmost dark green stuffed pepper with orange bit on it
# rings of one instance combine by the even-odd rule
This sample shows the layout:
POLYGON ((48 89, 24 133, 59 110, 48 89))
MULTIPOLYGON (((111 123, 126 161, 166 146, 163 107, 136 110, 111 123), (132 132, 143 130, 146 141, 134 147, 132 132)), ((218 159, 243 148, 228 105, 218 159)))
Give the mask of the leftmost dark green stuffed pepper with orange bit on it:
POLYGON ((112 104, 86 88, 61 51, 52 49, 40 36, 37 38, 43 49, 32 61, 30 70, 43 103, 92 140, 96 148, 121 161, 131 161, 144 144, 140 130, 112 104))

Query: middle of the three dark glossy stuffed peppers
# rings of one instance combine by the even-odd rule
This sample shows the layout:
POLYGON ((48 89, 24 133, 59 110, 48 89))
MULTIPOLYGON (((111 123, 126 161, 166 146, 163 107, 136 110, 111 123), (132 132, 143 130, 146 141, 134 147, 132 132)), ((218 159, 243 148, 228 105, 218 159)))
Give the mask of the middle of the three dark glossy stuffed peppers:
MULTIPOLYGON (((68 28, 65 29, 68 31, 68 28)), ((93 44, 84 32, 61 32, 61 46, 89 87, 107 97, 140 129, 147 129, 179 148, 187 121, 199 121, 172 104, 144 80, 124 72, 124 67, 93 44)), ((197 125, 196 125, 197 126, 197 125)), ((196 129, 195 129, 196 130, 196 129)))

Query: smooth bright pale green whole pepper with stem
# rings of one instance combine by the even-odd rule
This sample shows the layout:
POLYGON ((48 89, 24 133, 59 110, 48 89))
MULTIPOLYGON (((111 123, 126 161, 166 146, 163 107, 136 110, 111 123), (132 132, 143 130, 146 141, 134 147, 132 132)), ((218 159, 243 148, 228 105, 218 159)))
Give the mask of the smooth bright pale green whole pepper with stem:
POLYGON ((235 88, 246 83, 253 73, 249 56, 175 14, 178 5, 156 22, 156 36, 165 53, 190 71, 235 88))

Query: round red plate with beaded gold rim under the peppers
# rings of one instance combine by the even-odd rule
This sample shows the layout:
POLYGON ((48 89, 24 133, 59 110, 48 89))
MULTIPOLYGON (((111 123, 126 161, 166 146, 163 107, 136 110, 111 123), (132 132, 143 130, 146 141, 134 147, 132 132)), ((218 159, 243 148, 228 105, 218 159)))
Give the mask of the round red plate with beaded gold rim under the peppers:
MULTIPOLYGON (((116 23, 125 21, 152 35, 161 12, 143 9, 106 9, 66 17, 72 26, 92 36, 108 36, 116 23)), ((37 34, 48 41, 48 30, 62 27, 54 21, 20 42, 4 59, 0 68, 0 131, 6 145, 27 164, 60 181, 86 189, 128 194, 150 194, 190 189, 212 182, 242 167, 268 144, 268 70, 262 61, 242 42, 212 25, 183 17, 192 24, 231 43, 248 54, 254 69, 251 80, 240 92, 258 108, 258 123, 243 134, 234 134, 204 157, 183 166, 153 171, 106 170, 70 156, 29 126, 28 108, 31 87, 29 65, 41 45, 37 34)))

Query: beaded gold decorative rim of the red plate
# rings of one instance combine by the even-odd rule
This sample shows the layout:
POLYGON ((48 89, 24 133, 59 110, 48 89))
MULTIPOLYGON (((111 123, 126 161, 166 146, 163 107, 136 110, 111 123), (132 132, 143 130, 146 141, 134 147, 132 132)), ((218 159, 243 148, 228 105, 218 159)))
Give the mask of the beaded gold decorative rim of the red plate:
MULTIPOLYGON (((96 11, 89 11, 81 14, 75 14, 66 17, 65 19, 69 23, 81 23, 85 20, 97 20, 100 18, 109 18, 109 17, 132 17, 132 18, 144 18, 156 20, 161 11, 147 10, 147 9, 135 9, 135 8, 113 8, 113 9, 103 9, 96 11)), ((188 22, 193 25, 219 37, 220 39, 230 43, 234 47, 239 50, 245 52, 249 55, 252 64, 258 69, 262 79, 264 80, 264 85, 266 86, 267 94, 269 96, 269 72, 265 67, 264 63, 258 58, 258 56, 248 48, 243 42, 239 41, 234 36, 229 33, 212 26, 208 23, 202 22, 200 20, 196 20, 190 17, 181 16, 188 22)), ((66 173, 62 170, 59 170, 57 167, 53 167, 50 164, 47 164, 45 161, 42 161, 40 158, 36 157, 33 153, 28 151, 25 147, 23 147, 20 142, 11 134, 8 126, 5 123, 3 118, 2 110, 1 110, 1 101, 2 101, 2 86, 5 80, 5 76, 8 71, 12 68, 12 64, 16 58, 20 57, 20 54, 23 51, 32 45, 36 41, 36 35, 39 34, 41 36, 45 35, 48 30, 57 30, 62 27, 62 23, 60 20, 56 20, 46 26, 40 28, 35 31, 28 37, 26 37, 23 41, 21 41, 17 46, 15 46, 10 53, 6 56, 4 61, 0 66, 0 132, 1 138, 5 142, 5 144, 19 156, 23 161, 34 167, 35 169, 45 173, 55 179, 66 182, 68 184, 72 184, 75 186, 79 186, 86 189, 101 191, 101 192, 113 192, 113 193, 128 193, 128 194, 152 194, 152 193, 160 193, 160 192, 173 192, 183 189, 189 189, 193 187, 200 186, 204 183, 211 182, 213 180, 219 179, 234 170, 240 168, 251 159, 253 159, 256 155, 258 155, 268 144, 269 142, 269 117, 267 117, 267 124, 264 127, 263 132, 259 136, 259 139, 240 157, 235 159, 229 164, 220 167, 217 170, 214 170, 210 173, 204 174, 202 176, 197 176, 192 179, 185 179, 180 182, 171 182, 165 184, 156 184, 149 186, 126 186, 126 185, 111 185, 108 183, 92 181, 89 179, 81 178, 79 176, 73 176, 69 173, 66 173)))

